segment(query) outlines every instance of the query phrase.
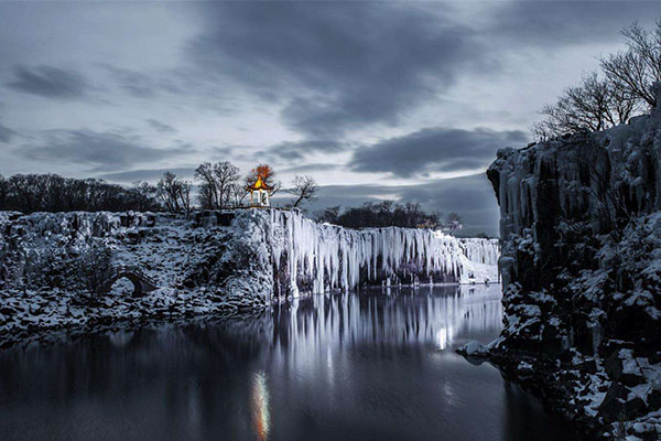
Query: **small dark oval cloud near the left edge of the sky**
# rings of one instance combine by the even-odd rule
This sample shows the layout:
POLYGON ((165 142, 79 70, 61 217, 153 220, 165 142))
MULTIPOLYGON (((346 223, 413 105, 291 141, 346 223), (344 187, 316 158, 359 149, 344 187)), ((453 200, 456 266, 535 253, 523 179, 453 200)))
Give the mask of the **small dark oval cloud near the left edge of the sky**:
POLYGON ((17 66, 8 86, 28 94, 46 98, 82 98, 88 84, 79 74, 53 66, 17 66))

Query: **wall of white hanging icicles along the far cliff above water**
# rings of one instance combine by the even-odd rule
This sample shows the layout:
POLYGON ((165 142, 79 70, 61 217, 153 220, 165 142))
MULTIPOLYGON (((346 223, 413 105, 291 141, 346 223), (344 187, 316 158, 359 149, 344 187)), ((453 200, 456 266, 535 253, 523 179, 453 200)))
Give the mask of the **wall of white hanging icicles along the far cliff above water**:
POLYGON ((497 280, 496 239, 457 239, 416 228, 347 229, 315 223, 296 211, 247 213, 268 217, 261 222, 275 272, 289 275, 292 295, 299 293, 302 281, 312 283, 307 288, 312 292, 324 292, 379 280, 414 284, 423 277, 433 281, 434 275, 460 283, 497 280))

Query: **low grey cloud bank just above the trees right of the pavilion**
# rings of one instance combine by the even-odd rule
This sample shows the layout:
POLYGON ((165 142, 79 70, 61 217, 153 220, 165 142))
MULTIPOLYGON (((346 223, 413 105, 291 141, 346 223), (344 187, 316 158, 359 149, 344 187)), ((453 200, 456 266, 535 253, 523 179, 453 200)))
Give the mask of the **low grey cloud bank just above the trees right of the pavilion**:
MULTIPOLYGON (((429 212, 456 212, 464 220, 462 235, 498 235, 498 204, 484 173, 418 185, 326 185, 319 189, 317 201, 306 209, 314 213, 327 206, 357 206, 383 198, 418 202, 429 212)), ((284 196, 280 195, 278 200, 284 201, 284 196)))

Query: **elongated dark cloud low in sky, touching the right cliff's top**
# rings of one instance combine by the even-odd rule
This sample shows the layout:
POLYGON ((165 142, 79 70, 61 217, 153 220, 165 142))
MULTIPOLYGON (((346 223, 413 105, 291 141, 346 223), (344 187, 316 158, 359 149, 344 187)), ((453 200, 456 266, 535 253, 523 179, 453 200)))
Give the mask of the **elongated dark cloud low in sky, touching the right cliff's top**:
POLYGON ((354 152, 349 166, 358 172, 389 172, 410 178, 429 172, 486 168, 500 148, 522 147, 520 130, 427 128, 390 138, 354 152))

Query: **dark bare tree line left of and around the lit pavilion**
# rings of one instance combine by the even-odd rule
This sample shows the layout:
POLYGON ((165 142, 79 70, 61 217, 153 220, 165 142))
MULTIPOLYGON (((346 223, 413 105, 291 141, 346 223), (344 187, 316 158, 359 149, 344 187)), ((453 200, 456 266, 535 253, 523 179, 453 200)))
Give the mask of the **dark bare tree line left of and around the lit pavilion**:
MULTIPOLYGON (((275 182, 275 172, 260 164, 241 178, 239 169, 228 161, 205 162, 195 170, 195 181, 187 181, 172 172, 163 173, 155 185, 137 181, 131 186, 105 182, 100 179, 63 178, 57 174, 0 175, 0 209, 34 212, 124 212, 167 211, 189 213, 202 209, 221 209, 243 206, 248 186, 258 178, 275 194, 282 186, 275 182), (197 195, 193 189, 197 186, 197 195), (197 201, 195 201, 195 198, 197 201), (197 205, 195 205, 197 202, 197 205)), ((312 176, 295 176, 286 190, 292 197, 288 206, 299 207, 314 201, 318 185, 312 176)))

